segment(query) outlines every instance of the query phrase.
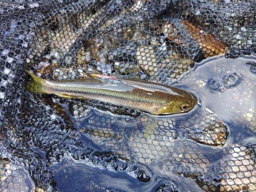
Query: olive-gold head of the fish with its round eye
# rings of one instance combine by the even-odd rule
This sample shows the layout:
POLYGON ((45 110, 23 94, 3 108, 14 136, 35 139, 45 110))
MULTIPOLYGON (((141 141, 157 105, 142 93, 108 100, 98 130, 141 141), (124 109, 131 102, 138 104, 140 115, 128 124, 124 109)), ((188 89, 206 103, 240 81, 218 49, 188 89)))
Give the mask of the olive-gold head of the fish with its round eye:
POLYGON ((157 113, 159 115, 186 113, 193 109, 197 103, 197 97, 194 94, 186 92, 159 106, 157 113))

